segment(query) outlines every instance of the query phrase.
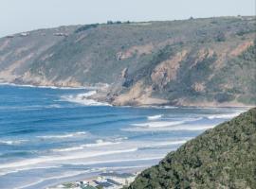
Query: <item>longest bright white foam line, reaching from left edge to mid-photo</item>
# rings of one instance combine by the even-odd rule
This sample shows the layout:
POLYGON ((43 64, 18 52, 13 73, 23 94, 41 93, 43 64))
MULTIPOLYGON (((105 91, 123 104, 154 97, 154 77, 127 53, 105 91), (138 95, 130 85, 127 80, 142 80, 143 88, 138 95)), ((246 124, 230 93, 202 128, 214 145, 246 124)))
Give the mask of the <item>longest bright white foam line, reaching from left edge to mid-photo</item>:
POLYGON ((13 163, 2 163, 0 164, 0 169, 9 169, 9 168, 16 168, 16 167, 23 167, 27 165, 33 165, 33 164, 39 164, 39 163, 61 163, 63 161, 70 161, 70 160, 79 160, 84 158, 93 158, 98 156, 105 156, 105 155, 113 155, 113 154, 119 154, 119 153, 128 153, 128 152, 135 152, 137 151, 137 147, 135 148, 129 148, 129 149, 123 149, 123 150, 110 150, 110 151, 85 151, 83 153, 76 153, 76 154, 68 154, 63 156, 46 156, 46 157, 39 157, 19 162, 13 162, 13 163))

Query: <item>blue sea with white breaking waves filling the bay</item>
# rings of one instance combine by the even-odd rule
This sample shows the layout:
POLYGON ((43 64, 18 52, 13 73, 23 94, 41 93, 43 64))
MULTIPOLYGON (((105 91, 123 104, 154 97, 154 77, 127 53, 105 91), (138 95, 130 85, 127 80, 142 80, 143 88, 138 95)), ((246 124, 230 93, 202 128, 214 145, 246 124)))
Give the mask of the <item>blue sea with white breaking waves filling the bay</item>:
POLYGON ((245 108, 112 107, 86 89, 0 85, 0 188, 140 170, 245 108))

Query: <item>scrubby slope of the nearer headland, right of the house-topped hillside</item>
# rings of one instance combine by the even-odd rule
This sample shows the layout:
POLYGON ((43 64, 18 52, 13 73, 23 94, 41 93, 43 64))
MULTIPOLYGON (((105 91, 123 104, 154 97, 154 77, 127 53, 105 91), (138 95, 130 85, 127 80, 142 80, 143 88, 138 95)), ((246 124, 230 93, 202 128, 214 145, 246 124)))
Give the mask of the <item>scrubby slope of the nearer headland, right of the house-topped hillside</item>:
POLYGON ((255 104, 256 90, 252 84, 256 81, 255 45, 244 49, 249 56, 243 52, 231 55, 239 45, 253 42, 254 34, 252 20, 231 17, 83 26, 35 60, 30 72, 43 73, 56 81, 72 77, 82 84, 115 83, 121 71, 128 68, 122 87, 114 94, 126 93, 142 81, 142 90, 152 87, 153 96, 172 104, 203 101, 255 104), (197 61, 202 49, 213 54, 197 61), (165 85, 152 80, 157 65, 184 50, 188 55, 180 62, 175 79, 165 85), (129 51, 127 58, 119 60, 119 53, 129 51), (44 59, 51 52, 54 54, 44 59), (203 86, 202 91, 194 90, 197 83, 203 86))

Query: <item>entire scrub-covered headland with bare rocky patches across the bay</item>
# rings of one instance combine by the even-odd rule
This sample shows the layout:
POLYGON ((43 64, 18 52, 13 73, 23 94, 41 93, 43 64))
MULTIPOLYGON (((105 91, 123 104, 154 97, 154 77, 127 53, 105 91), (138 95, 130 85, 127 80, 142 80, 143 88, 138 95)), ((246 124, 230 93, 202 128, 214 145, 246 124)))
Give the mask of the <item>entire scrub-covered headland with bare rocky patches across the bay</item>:
POLYGON ((255 17, 67 26, 0 39, 1 81, 107 83, 95 97, 114 105, 252 105, 255 73, 255 17))

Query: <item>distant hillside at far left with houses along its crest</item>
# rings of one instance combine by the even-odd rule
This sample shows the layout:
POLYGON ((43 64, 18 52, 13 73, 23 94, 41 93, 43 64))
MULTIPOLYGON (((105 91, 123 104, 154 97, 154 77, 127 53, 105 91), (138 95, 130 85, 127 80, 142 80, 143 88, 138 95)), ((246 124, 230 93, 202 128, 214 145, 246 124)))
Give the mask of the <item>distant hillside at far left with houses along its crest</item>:
POLYGON ((0 82, 17 82, 36 58, 63 41, 79 26, 60 26, 9 35, 0 39, 0 82))

